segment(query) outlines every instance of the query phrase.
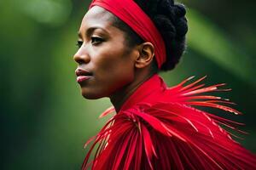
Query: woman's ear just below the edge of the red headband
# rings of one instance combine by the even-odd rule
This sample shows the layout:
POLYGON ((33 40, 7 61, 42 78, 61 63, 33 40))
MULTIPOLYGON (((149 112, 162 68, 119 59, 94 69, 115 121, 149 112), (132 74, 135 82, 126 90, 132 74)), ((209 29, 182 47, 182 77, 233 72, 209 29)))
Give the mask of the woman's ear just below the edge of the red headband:
POLYGON ((143 42, 137 48, 139 55, 137 56, 135 67, 144 68, 150 65, 154 59, 154 45, 151 42, 143 42))

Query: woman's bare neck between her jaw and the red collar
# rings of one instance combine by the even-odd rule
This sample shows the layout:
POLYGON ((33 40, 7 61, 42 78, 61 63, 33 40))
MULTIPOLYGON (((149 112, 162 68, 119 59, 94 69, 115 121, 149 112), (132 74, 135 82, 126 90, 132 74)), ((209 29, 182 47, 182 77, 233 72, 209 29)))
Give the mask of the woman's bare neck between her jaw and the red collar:
POLYGON ((115 108, 115 111, 118 113, 126 99, 128 99, 131 94, 133 94, 136 89, 143 84, 143 82, 147 81, 148 78, 152 77, 153 75, 154 73, 148 74, 147 76, 143 74, 137 75, 134 77, 133 82, 113 93, 109 98, 115 108))

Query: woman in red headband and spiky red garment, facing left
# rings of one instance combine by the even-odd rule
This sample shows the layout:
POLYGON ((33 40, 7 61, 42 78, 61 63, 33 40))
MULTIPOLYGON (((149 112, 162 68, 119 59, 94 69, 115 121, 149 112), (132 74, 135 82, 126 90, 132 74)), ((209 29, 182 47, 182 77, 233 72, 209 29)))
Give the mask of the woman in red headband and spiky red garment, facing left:
MULTIPOLYGON (((256 159, 220 124, 240 125, 194 105, 239 114, 229 101, 204 93, 204 78, 167 88, 185 47, 185 8, 172 0, 95 0, 79 29, 76 75, 86 99, 109 97, 115 114, 94 140, 82 169, 255 169, 256 159), (96 154, 89 162, 91 151, 96 154)), ((225 90, 225 89, 222 89, 225 90)), ((242 132, 241 132, 242 133, 242 132)))

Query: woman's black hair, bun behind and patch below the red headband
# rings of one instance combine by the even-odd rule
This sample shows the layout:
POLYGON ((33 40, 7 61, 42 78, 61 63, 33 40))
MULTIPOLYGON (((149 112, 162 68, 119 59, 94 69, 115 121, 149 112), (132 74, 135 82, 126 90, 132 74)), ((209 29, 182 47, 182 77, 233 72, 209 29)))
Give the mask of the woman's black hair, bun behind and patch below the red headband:
MULTIPOLYGON (((153 20, 166 44, 166 62, 158 71, 171 71, 186 48, 185 36, 188 25, 184 5, 174 3, 174 0, 134 0, 134 2, 153 20)), ((113 26, 125 31, 128 47, 134 47, 143 42, 143 39, 119 18, 114 18, 113 26)), ((154 67, 157 68, 155 62, 154 67)))

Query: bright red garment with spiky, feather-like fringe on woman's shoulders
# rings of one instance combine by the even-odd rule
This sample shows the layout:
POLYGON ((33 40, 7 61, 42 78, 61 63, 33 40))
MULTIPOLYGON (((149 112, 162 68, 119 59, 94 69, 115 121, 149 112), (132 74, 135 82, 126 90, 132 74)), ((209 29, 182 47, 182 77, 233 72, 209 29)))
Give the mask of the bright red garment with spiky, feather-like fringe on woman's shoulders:
POLYGON ((205 94, 228 89, 218 89, 224 84, 204 87, 199 84, 204 78, 184 85, 190 77, 172 88, 158 75, 148 79, 85 144, 94 140, 82 169, 256 169, 255 155, 219 126, 243 133, 237 129, 241 123, 194 107, 241 114, 227 99, 205 94), (88 163, 96 144, 96 155, 88 163))

